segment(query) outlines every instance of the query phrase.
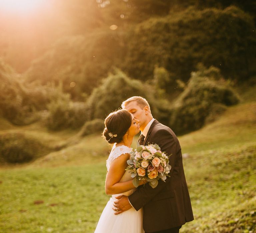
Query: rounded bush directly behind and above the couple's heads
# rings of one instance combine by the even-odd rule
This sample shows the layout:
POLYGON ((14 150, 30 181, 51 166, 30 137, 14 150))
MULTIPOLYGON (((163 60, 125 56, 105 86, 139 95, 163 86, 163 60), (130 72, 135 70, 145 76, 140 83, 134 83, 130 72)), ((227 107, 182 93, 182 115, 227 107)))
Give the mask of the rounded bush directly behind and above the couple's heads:
POLYGON ((110 74, 99 87, 93 90, 87 101, 89 118, 104 119, 109 113, 120 108, 124 100, 132 96, 146 98, 152 114, 157 116, 154 88, 138 80, 129 79, 123 72, 117 70, 115 74, 110 74))

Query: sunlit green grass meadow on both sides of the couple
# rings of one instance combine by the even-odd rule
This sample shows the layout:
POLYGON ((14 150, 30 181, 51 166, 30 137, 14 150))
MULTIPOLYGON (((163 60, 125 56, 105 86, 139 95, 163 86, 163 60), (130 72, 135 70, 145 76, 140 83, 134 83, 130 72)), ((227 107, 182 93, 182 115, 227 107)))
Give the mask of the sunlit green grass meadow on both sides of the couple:
MULTIPOLYGON (((230 107, 216 121, 179 137, 195 220, 180 232, 256 231, 256 101, 230 107)), ((4 121, 1 121, 1 123, 4 121)), ((36 134, 37 124, 20 129, 36 134)), ((41 130, 47 140, 49 132, 41 130)), ((65 141, 75 132, 51 134, 65 141)), ((109 199, 110 147, 100 134, 22 165, 0 168, 0 232, 94 232, 109 199)))

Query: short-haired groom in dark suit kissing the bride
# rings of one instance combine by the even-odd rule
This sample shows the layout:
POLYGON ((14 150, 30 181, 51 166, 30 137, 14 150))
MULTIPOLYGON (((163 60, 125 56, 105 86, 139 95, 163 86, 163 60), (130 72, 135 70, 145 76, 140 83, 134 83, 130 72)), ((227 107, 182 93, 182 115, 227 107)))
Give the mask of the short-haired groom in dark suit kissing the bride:
POLYGON ((122 108, 140 120, 142 133, 139 143, 158 144, 161 151, 171 155, 169 164, 172 168, 166 182, 159 180, 155 188, 149 184, 141 185, 129 197, 117 197, 113 210, 117 210, 115 214, 120 214, 132 207, 137 211, 143 207, 143 228, 146 233, 178 233, 183 224, 194 219, 179 141, 169 127, 152 117, 146 99, 131 97, 122 103, 122 108))

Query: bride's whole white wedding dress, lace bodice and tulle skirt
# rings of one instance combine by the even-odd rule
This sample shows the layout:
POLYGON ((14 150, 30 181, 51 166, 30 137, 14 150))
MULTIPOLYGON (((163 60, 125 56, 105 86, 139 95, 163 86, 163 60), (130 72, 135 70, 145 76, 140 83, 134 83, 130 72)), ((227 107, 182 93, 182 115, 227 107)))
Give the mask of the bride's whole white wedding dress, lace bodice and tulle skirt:
MULTIPOLYGON (((131 148, 122 145, 117 146, 114 144, 109 157, 107 159, 107 170, 109 170, 111 163, 115 158, 120 156, 121 154, 130 153, 131 148)), ((121 178, 122 181, 131 180, 131 173, 125 171, 123 177, 121 178)), ((131 195, 135 189, 130 191, 114 194, 108 201, 107 205, 105 206, 102 214, 100 216, 98 225, 95 229, 94 233, 144 233, 143 225, 142 225, 142 215, 143 209, 141 208, 139 211, 136 211, 133 207, 129 210, 115 215, 115 211, 112 209, 113 203, 117 200, 115 197, 119 195, 131 195)))

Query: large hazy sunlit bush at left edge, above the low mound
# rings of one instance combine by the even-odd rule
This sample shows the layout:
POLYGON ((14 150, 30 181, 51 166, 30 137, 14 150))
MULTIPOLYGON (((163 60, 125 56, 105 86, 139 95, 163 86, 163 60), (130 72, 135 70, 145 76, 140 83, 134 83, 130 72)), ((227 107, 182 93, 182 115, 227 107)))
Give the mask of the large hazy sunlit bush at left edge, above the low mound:
MULTIPOLYGON (((52 83, 45 86, 25 83, 22 76, 0 60, 0 115, 13 124, 26 125, 37 121, 40 119, 39 111, 45 110, 47 104, 65 98, 61 83, 58 86, 52 83)), ((72 108, 76 109, 79 108, 72 108)))

